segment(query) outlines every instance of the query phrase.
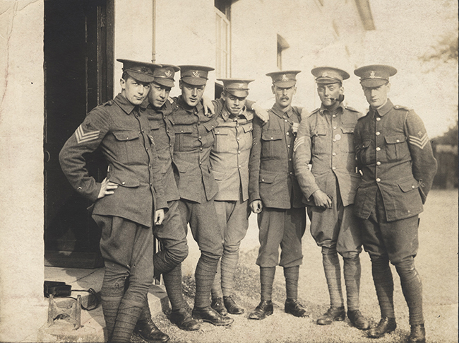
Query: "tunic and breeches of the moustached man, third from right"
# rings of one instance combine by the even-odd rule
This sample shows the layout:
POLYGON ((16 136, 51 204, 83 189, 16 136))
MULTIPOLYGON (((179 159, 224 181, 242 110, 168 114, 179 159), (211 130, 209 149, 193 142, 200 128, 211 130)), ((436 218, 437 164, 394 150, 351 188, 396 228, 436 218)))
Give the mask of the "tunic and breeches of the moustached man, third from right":
POLYGON ((302 236, 306 212, 293 169, 294 123, 301 121, 301 109, 283 112, 278 105, 268 111, 265 124, 255 118, 254 144, 249 161, 249 202, 261 200, 258 214, 261 267, 294 267, 302 263, 302 236), (282 253, 279 261, 279 245, 282 253))

